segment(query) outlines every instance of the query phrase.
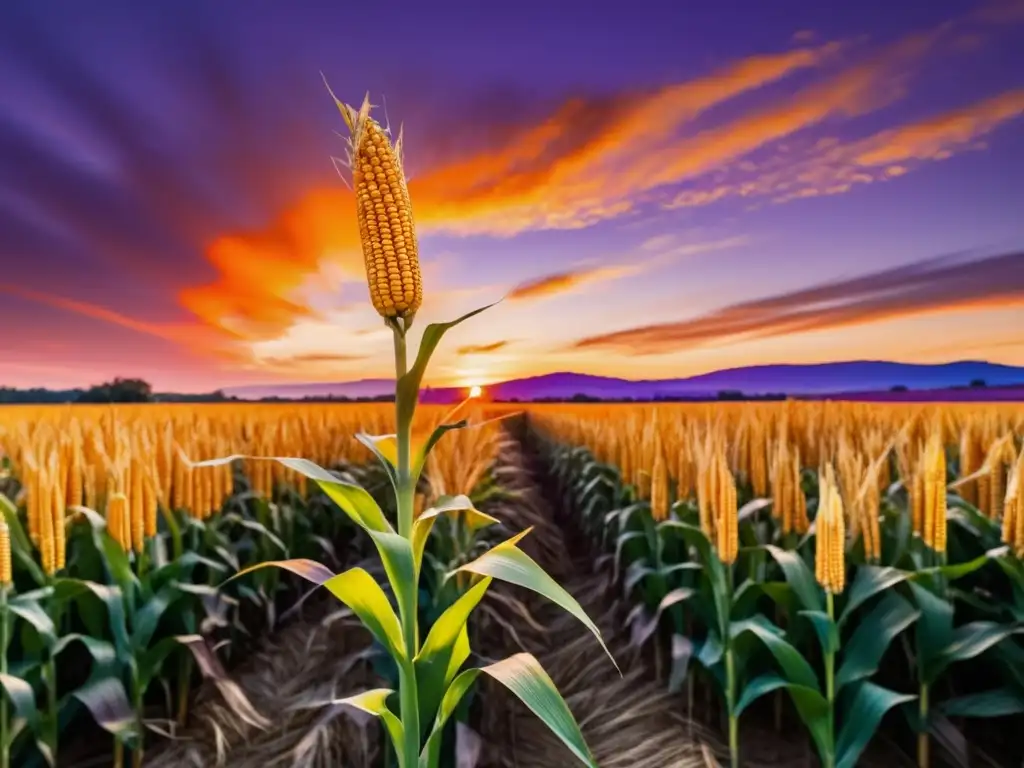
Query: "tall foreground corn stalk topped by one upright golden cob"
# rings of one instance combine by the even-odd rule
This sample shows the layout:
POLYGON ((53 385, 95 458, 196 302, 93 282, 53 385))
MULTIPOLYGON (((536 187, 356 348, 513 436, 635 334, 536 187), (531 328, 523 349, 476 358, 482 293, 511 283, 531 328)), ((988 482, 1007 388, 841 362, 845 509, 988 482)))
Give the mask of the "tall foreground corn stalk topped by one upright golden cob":
MULTIPOLYGON (((397 527, 364 488, 343 482, 304 459, 275 461, 316 482, 369 535, 383 562, 398 612, 395 614, 383 589, 362 568, 335 574, 311 560, 270 561, 254 567, 286 568, 326 586, 362 621, 392 656, 398 669, 397 691, 369 690, 332 703, 379 717, 394 748, 399 768, 438 766, 444 726, 480 673, 506 685, 578 760, 596 767, 571 712, 532 655, 518 653, 483 668, 461 671, 470 654, 467 628, 470 613, 494 579, 548 597, 583 622, 604 647, 600 632, 580 604, 518 548, 518 542, 529 530, 459 567, 457 571, 474 580, 472 587, 441 614, 426 638, 421 639, 420 571, 434 521, 440 515, 462 515, 471 527, 479 528, 496 520, 474 509, 465 496, 442 497, 417 516, 416 488, 430 450, 446 432, 463 429, 468 424, 466 420, 440 424, 425 441, 415 442, 413 418, 427 365, 443 334, 488 307, 476 309, 452 323, 427 326, 416 358, 409 364, 408 334, 422 302, 423 289, 412 204, 402 171, 401 137, 399 135, 392 144, 389 131, 370 117, 369 98, 358 110, 337 98, 335 102, 351 134, 349 161, 370 296, 374 308, 391 329, 394 347, 395 432, 392 435, 360 433, 357 437, 388 472, 396 502, 397 527), (388 705, 394 694, 398 698, 397 714, 388 705)), ((253 457, 226 457, 189 464, 194 468, 218 466, 237 458, 253 457)))

